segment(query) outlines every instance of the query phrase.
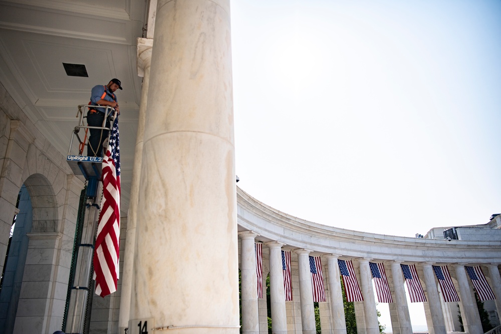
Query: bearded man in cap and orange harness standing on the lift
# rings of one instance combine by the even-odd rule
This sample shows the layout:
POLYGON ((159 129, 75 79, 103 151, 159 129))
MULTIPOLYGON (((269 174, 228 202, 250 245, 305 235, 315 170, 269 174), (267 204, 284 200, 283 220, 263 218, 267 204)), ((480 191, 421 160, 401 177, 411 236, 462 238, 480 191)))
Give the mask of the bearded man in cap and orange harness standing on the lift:
MULTIPOLYGON (((110 106, 115 109, 117 115, 120 115, 117 96, 115 91, 122 89, 122 83, 118 79, 112 79, 108 85, 94 86, 91 92, 92 106, 110 106)), ((87 125, 102 127, 105 108, 89 108, 87 112, 87 125)), ((110 127, 110 120, 106 120, 106 127, 110 127)), ((89 129, 90 137, 87 144, 87 155, 90 157, 101 157, 103 155, 103 142, 108 138, 109 131, 102 129, 89 129)))

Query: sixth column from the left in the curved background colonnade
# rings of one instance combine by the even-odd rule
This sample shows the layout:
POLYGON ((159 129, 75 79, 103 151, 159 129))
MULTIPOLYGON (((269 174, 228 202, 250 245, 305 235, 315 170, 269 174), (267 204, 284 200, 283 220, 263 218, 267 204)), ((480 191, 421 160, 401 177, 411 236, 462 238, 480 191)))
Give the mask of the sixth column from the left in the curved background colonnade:
MULTIPOLYGON (((400 334, 412 334, 409 306, 405 296, 404 279, 399 261, 391 261, 391 276, 393 278, 393 302, 397 310, 400 334)), ((395 331, 395 330, 394 330, 395 331)))

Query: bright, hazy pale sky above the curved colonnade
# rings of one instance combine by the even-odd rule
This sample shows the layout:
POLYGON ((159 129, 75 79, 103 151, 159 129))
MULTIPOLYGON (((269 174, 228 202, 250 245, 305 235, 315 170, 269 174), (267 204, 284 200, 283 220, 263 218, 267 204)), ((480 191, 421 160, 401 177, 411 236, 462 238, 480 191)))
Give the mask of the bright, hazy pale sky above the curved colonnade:
POLYGON ((245 192, 409 237, 501 212, 501 1, 235 0, 231 27, 245 192))

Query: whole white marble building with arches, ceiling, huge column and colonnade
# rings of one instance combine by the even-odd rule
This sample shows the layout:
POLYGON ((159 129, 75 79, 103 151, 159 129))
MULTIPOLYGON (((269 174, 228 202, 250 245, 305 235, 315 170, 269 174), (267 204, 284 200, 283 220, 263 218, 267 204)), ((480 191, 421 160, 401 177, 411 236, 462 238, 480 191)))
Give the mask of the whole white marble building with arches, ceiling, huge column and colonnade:
POLYGON ((52 334, 80 311, 68 294, 77 227, 88 223, 78 217, 85 181, 66 154, 76 106, 111 78, 124 86, 121 279, 117 292, 89 299, 84 331, 123 333, 131 320, 131 329, 149 321, 155 332, 236 333, 240 269, 243 332, 267 332, 255 242, 264 244, 274 332, 315 332, 308 256, 322 261, 322 332, 346 332, 338 259, 352 260, 364 296, 355 302, 359 334, 379 333, 369 262, 385 267, 394 333, 412 332, 400 264, 416 265, 430 333, 458 330, 432 265, 448 266, 471 334, 483 330, 464 266, 480 266, 498 324, 499 216, 454 226, 457 240, 444 239, 444 228, 424 238, 378 235, 292 217, 236 187, 229 22, 228 0, 0 3, 2 258, 17 215, 0 261, 0 328, 52 334), (292 301, 280 250, 291 251, 292 301))

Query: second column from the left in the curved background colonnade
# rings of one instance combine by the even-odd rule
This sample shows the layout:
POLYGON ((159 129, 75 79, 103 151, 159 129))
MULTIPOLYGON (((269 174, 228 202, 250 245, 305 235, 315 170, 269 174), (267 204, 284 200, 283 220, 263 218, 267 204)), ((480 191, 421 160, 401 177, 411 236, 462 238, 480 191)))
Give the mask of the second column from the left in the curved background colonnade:
POLYGON ((270 250, 270 301, 272 308, 272 333, 287 333, 282 246, 278 241, 267 242, 270 250))

